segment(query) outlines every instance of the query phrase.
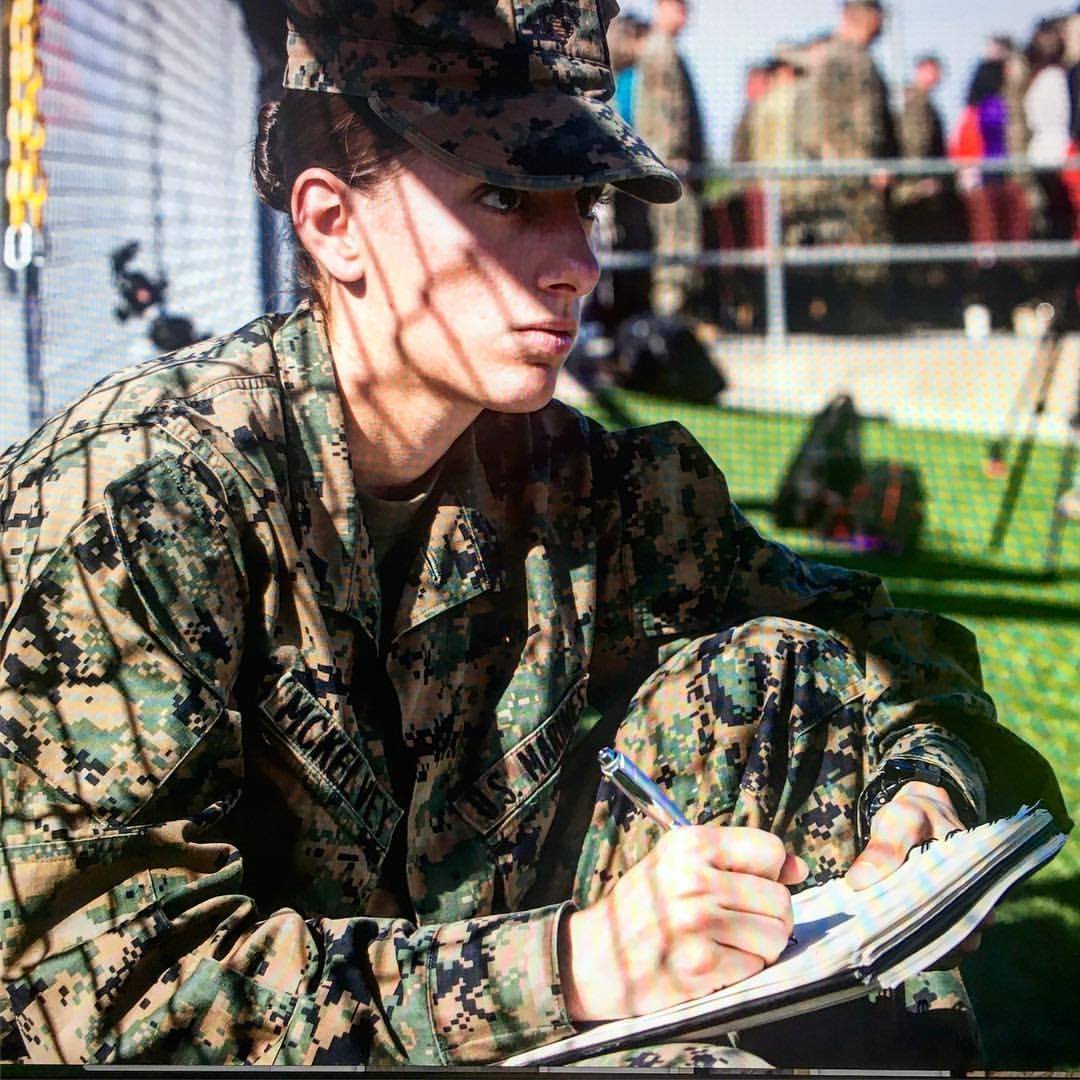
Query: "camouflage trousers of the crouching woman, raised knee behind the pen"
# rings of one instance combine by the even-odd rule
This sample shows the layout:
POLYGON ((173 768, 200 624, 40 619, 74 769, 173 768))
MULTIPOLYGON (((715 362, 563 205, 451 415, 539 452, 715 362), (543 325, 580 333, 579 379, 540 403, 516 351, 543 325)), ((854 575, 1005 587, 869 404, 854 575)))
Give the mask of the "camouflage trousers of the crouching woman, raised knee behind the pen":
MULTIPOLYGON (((692 822, 777 833, 809 863, 808 881, 823 881, 842 874, 858 853, 855 805, 870 771, 863 679, 858 658, 825 631, 756 620, 671 647, 615 730, 595 732, 582 748, 595 757, 596 745, 613 734, 616 747, 692 822)), ((584 756, 578 760, 585 764, 584 756)), ((580 906, 611 889, 660 835, 609 782, 585 789, 596 792, 595 800, 580 798, 568 811, 562 841, 579 852, 573 897, 580 906)), ((972 1067, 978 1056, 955 971, 730 1041, 653 1047, 585 1064, 948 1069, 972 1067)))

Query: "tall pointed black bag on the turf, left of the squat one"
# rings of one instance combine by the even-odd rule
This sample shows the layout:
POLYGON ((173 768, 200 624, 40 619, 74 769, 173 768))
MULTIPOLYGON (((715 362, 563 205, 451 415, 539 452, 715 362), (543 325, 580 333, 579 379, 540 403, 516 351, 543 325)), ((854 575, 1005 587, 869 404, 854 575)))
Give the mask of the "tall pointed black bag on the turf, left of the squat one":
POLYGON ((838 394, 813 418, 777 491, 778 525, 843 535, 848 500, 864 473, 860 424, 848 394, 838 394))

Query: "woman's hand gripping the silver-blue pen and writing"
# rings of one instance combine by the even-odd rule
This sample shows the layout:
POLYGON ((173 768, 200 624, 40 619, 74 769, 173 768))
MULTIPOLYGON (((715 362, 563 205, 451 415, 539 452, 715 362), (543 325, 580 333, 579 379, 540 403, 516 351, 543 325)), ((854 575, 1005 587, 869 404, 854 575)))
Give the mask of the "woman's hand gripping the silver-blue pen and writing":
POLYGON ((785 886, 807 865, 771 833, 689 825, 559 928, 571 1018, 613 1020, 688 1001, 772 963, 792 933, 785 886))

